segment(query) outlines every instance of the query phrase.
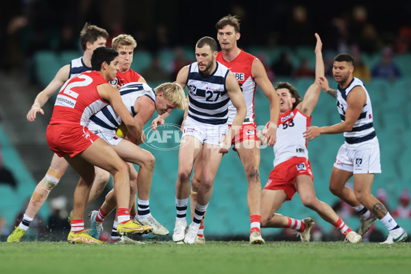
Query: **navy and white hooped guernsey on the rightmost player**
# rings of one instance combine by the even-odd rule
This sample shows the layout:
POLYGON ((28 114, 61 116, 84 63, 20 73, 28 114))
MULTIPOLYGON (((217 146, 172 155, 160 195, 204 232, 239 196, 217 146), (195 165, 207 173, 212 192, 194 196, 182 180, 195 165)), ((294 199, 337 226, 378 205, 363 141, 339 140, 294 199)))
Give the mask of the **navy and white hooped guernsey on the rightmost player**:
POLYGON ((360 79, 354 77, 347 88, 341 88, 338 84, 337 92, 337 108, 340 112, 341 121, 345 121, 345 111, 347 110, 347 97, 349 92, 356 86, 364 88, 366 93, 366 103, 362 107, 362 112, 358 120, 351 129, 351 132, 345 132, 345 144, 347 147, 361 147, 364 149, 378 147, 378 139, 375 134, 373 125, 373 108, 371 108, 371 99, 369 93, 366 91, 364 84, 360 79))

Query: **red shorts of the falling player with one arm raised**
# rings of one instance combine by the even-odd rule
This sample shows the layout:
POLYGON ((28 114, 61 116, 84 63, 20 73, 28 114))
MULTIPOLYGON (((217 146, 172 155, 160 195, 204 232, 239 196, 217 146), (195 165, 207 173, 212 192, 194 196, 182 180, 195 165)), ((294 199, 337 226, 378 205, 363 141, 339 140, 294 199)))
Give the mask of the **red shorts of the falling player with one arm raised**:
POLYGON ((286 201, 290 201, 297 192, 295 181, 299 175, 308 175, 313 180, 310 161, 303 157, 293 157, 275 166, 264 189, 284 190, 286 201))

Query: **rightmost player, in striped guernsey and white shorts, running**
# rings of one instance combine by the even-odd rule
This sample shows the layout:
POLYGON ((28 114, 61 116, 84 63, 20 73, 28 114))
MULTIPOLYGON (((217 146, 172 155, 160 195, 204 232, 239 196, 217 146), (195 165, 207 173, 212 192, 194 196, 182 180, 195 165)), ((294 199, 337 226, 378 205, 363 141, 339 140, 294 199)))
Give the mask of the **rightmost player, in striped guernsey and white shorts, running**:
POLYGON ((388 229, 388 238, 382 242, 392 244, 407 240, 406 231, 390 215, 381 201, 371 195, 375 173, 381 173, 379 142, 373 126, 371 100, 364 84, 353 77, 354 60, 341 53, 334 58, 332 73, 338 83, 337 90, 329 88, 321 77, 321 87, 337 99, 341 123, 328 127, 308 127, 305 137, 312 140, 321 134, 344 133, 345 142, 338 150, 329 179, 331 192, 348 203, 361 215, 359 234, 365 234, 377 217, 388 229), (354 177, 354 190, 345 183, 354 177))

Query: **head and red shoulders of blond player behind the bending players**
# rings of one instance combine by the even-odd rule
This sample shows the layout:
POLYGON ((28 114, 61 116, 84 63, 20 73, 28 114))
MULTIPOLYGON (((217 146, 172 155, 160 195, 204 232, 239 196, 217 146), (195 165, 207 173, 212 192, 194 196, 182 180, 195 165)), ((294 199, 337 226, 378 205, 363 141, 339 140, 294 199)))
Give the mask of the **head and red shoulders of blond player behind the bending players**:
POLYGON ((121 87, 131 82, 146 82, 140 74, 130 69, 136 47, 137 42, 131 35, 120 34, 113 38, 112 48, 119 53, 119 71, 117 71, 116 79, 110 82, 113 86, 121 87))

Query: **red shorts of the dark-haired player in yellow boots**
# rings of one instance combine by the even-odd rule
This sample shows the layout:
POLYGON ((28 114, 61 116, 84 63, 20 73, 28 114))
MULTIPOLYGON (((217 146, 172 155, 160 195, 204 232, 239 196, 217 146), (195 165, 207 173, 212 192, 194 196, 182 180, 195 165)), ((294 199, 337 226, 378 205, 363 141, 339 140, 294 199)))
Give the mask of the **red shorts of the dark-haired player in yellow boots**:
POLYGON ((85 151, 99 136, 82 125, 55 124, 47 127, 47 143, 59 157, 69 154, 73 158, 85 151))

